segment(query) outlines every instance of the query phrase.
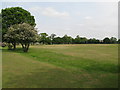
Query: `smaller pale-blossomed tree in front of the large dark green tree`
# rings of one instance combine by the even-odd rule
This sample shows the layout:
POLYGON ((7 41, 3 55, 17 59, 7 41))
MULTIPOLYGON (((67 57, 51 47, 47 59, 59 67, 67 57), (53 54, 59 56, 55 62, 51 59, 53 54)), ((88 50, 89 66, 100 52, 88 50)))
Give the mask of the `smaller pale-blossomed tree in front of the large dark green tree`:
POLYGON ((9 28, 5 38, 9 43, 11 43, 11 40, 17 41, 22 45, 23 51, 28 52, 30 43, 37 39, 37 30, 27 23, 16 24, 9 28))

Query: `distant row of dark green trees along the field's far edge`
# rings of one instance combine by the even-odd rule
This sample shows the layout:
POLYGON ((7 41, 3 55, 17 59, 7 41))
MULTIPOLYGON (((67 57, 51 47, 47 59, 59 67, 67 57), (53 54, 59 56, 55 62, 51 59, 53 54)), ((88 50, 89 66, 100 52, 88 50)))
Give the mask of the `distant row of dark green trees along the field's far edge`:
POLYGON ((64 35, 63 37, 57 37, 56 34, 40 33, 38 42, 41 44, 117 44, 120 43, 120 39, 117 40, 115 37, 105 37, 103 40, 95 38, 80 37, 77 35, 75 38, 64 35))

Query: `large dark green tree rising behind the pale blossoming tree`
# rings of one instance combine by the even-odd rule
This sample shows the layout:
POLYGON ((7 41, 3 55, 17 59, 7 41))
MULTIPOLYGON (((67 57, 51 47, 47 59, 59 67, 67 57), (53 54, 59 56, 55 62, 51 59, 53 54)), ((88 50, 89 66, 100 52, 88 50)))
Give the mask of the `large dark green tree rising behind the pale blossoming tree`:
MULTIPOLYGON (((35 26, 34 16, 21 7, 2 9, 2 37, 7 33, 8 28, 14 24, 28 23, 35 26)), ((3 38, 4 41, 4 38, 3 38)))

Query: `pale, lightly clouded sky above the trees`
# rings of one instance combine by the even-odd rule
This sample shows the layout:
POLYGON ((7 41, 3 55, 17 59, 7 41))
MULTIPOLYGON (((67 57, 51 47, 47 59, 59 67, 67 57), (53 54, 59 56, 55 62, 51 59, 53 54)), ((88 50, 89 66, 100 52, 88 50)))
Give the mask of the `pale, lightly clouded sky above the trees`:
POLYGON ((39 33, 103 39, 118 37, 117 2, 4 2, 35 16, 39 33))

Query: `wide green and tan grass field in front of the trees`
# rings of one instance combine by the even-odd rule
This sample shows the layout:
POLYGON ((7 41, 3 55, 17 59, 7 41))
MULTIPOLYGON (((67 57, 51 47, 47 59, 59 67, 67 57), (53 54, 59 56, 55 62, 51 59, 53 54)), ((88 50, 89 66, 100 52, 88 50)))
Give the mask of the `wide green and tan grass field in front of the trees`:
POLYGON ((28 53, 3 48, 4 88, 116 88, 118 45, 38 45, 28 53))

